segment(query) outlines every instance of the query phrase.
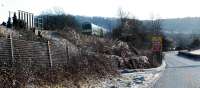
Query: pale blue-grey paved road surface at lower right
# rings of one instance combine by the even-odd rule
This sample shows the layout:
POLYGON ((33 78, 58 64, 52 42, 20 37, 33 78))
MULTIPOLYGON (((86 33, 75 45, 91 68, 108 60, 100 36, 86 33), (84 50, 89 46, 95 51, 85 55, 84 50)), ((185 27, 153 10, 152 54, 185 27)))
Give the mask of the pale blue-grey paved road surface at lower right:
POLYGON ((166 70, 153 88, 200 88, 200 61, 176 54, 166 53, 166 70))

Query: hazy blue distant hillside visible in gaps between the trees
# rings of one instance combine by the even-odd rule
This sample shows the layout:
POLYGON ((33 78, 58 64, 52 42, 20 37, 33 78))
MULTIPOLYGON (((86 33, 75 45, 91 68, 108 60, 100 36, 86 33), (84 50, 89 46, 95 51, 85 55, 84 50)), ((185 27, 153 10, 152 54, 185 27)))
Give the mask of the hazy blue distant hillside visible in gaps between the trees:
MULTIPOLYGON (((117 18, 76 16, 79 23, 92 22, 106 29, 113 29, 118 25, 117 18)), ((143 20, 144 24, 149 20, 143 20)), ((200 17, 162 19, 162 28, 166 33, 200 33, 200 17)))

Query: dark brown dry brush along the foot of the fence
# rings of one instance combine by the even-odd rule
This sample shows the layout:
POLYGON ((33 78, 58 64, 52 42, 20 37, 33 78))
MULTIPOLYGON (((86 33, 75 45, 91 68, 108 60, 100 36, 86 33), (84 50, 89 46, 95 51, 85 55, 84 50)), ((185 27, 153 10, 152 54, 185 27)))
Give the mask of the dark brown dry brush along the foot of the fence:
POLYGON ((80 83, 89 85, 89 81, 85 82, 85 80, 100 80, 118 75, 117 67, 112 65, 111 59, 103 55, 80 52, 82 53, 79 56, 70 58, 67 64, 52 68, 25 63, 16 63, 13 67, 2 68, 0 69, 0 87, 25 88, 33 84, 37 87, 63 85, 67 88, 70 86, 79 88, 80 83), (71 84, 64 85, 68 84, 66 81, 71 84))

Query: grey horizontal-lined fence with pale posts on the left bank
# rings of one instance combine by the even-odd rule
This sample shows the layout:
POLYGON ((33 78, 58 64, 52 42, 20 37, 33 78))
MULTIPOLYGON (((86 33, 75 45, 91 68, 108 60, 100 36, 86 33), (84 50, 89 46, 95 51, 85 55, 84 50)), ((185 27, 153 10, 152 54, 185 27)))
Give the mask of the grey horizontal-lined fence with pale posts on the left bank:
POLYGON ((11 67, 20 63, 53 67, 67 63, 68 48, 51 42, 35 42, 14 39, 12 36, 0 39, 0 67, 11 67))

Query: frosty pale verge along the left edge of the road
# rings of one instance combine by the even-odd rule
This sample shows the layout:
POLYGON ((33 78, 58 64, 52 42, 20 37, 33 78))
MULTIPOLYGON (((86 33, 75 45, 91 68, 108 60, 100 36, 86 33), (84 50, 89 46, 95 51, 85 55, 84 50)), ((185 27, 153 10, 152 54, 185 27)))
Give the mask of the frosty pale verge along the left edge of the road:
POLYGON ((120 70, 120 77, 104 80, 101 88, 152 88, 162 76, 165 67, 166 62, 163 60, 157 68, 125 69, 125 72, 120 70))

